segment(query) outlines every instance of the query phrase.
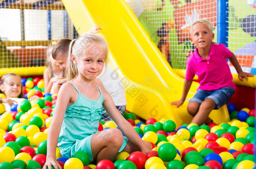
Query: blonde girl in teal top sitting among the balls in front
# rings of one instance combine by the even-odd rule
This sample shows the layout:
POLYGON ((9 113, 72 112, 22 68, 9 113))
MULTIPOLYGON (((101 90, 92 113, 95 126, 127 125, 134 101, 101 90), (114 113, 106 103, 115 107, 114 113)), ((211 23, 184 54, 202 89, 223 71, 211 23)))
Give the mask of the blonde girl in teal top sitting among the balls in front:
POLYGON ((86 33, 71 42, 68 82, 61 86, 57 96, 44 169, 61 168, 55 159, 57 146, 64 157, 71 158, 76 151, 85 151, 90 162, 96 163, 102 159, 114 161, 120 151, 146 154, 152 149, 119 113, 110 94, 96 78, 102 72, 107 53, 107 43, 96 34, 86 33), (102 105, 127 138, 117 128, 97 130, 102 105))

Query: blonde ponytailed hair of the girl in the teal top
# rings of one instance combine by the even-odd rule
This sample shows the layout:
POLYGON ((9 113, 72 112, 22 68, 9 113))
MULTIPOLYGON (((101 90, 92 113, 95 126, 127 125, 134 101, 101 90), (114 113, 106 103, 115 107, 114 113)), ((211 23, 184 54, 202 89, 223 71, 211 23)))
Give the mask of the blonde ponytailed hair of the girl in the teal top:
POLYGON ((82 55, 84 49, 86 48, 93 48, 93 43, 99 43, 99 45, 103 48, 103 53, 105 57, 105 61, 107 60, 107 42, 97 34, 92 33, 84 33, 83 35, 79 36, 77 39, 74 39, 71 41, 69 45, 69 51, 68 51, 68 60, 67 60, 67 69, 66 69, 66 75, 68 78, 68 81, 72 80, 73 78, 76 78, 78 75, 78 69, 76 65, 73 63, 71 55, 73 54, 76 58, 82 55))

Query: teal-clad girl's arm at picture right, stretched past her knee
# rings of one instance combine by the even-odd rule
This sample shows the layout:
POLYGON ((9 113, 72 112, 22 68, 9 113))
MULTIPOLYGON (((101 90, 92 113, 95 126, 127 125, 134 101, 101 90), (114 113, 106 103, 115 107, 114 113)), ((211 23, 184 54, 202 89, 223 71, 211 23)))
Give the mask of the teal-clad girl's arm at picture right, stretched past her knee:
POLYGON ((120 130, 123 132, 123 134, 127 136, 129 141, 138 146, 143 153, 146 154, 148 151, 150 151, 151 149, 144 143, 140 136, 138 136, 136 131, 133 129, 133 126, 127 120, 125 120, 122 114, 120 114, 118 109, 115 107, 115 103, 112 97, 104 89, 103 85, 98 86, 100 86, 100 88, 102 89, 104 98, 103 106, 105 110, 107 111, 109 116, 115 121, 120 130))

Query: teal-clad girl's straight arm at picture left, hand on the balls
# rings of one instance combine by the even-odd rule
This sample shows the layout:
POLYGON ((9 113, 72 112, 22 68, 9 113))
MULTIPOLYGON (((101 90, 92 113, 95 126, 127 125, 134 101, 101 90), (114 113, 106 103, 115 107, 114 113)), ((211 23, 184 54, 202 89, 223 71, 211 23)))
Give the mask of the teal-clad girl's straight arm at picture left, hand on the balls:
POLYGON ((55 169, 61 168, 55 156, 61 125, 72 94, 72 92, 66 91, 72 91, 72 87, 68 83, 61 86, 57 96, 57 103, 47 136, 47 156, 43 169, 46 169, 47 166, 48 168, 51 168, 51 166, 55 167, 55 169))

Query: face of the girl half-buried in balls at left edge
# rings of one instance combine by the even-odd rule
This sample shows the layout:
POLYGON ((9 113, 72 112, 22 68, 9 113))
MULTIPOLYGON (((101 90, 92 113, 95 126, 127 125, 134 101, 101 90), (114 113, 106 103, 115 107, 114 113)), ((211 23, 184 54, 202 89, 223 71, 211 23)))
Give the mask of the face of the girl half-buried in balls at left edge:
POLYGON ((1 85, 1 90, 7 98, 18 97, 21 94, 21 78, 19 76, 8 76, 1 85))

